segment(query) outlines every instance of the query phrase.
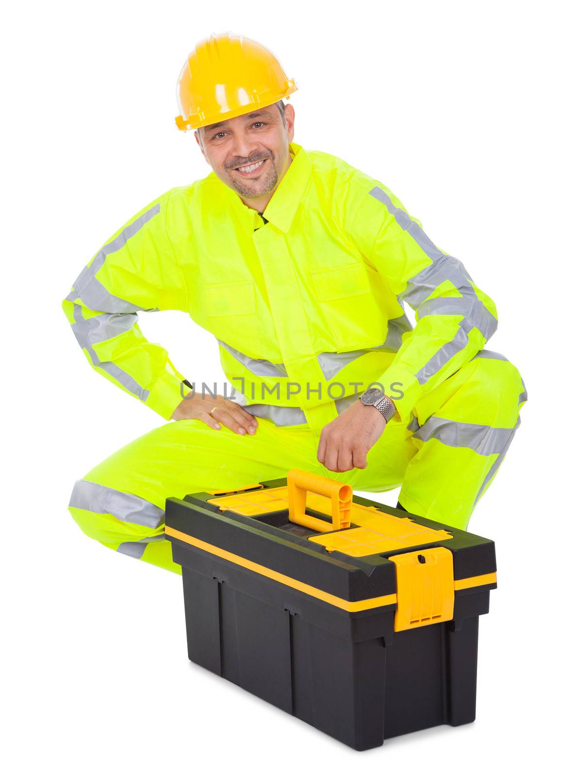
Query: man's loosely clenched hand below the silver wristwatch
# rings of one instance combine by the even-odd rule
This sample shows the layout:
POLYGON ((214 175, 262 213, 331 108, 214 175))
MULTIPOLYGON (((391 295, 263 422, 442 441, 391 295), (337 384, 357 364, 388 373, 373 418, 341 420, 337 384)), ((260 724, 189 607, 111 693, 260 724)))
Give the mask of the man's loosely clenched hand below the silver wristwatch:
POLYGON ((322 429, 316 458, 332 472, 365 469, 366 454, 386 426, 376 407, 363 405, 357 399, 322 429))

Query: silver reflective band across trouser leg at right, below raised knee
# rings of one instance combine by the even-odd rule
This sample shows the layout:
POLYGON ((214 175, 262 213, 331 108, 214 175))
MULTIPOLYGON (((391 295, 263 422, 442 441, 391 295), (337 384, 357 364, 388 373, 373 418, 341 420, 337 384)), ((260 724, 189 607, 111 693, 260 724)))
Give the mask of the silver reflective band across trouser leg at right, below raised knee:
POLYGON ((444 445, 453 448, 471 448, 481 456, 491 456, 500 453, 512 437, 512 429, 488 427, 480 423, 464 423, 450 421, 446 418, 429 416, 413 437, 426 442, 439 440, 444 445))

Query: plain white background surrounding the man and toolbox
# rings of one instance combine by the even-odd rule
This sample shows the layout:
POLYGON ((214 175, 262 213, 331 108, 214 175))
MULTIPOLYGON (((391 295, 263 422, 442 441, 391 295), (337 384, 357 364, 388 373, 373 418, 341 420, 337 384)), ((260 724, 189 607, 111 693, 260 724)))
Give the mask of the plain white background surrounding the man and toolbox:
MULTIPOLYGON (((578 104, 573 4, 28 2, 3 13, 2 488, 10 775, 562 771, 578 692, 578 104), (470 529, 495 539, 478 720, 363 754, 189 664, 181 579, 86 538, 75 479, 162 423, 94 373, 61 312, 130 216, 206 176, 175 84, 210 33, 300 89, 295 140, 382 180, 498 306, 530 401, 470 529)), ((141 316, 221 376, 180 313, 141 316), (151 320, 150 320, 151 319, 151 320)), ((382 495, 395 504, 397 493, 382 495)))

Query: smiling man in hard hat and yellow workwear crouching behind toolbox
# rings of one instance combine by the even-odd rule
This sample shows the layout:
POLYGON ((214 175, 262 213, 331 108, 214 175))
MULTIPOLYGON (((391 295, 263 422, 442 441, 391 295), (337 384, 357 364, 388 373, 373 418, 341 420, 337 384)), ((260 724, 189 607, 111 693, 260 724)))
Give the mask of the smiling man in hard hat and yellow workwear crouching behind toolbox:
POLYGON ((526 401, 516 367, 484 350, 495 305, 463 264, 379 180, 293 142, 296 89, 252 40, 198 44, 176 123, 212 172, 130 218, 63 303, 92 366, 174 420, 79 480, 71 514, 178 573, 166 497, 292 467, 365 491, 402 484, 399 507, 465 528, 526 401), (202 380, 189 392, 145 340, 137 312, 169 309, 214 333, 233 399, 202 380))

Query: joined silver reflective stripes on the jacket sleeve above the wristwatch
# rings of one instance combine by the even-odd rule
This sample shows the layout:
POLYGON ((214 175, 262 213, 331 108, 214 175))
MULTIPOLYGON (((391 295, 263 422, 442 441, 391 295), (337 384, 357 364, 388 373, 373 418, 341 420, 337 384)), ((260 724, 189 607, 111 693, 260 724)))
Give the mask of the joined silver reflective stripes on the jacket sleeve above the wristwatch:
MULTIPOLYGON (((422 315, 428 315, 429 312, 434 315, 443 312, 442 307, 437 310, 436 300, 428 301, 427 298, 444 281, 449 280, 463 295, 461 298, 445 298, 446 315, 453 310, 453 315, 464 315, 464 319, 460 322, 453 340, 439 348, 437 353, 415 375, 419 383, 423 384, 443 368, 455 354, 464 349, 469 341, 468 335, 471 329, 479 329, 485 340, 489 340, 497 329, 498 321, 478 299, 474 287, 469 282, 472 280, 471 275, 467 273, 460 260, 441 252, 405 211, 400 207, 395 207, 391 197, 380 186, 375 186, 370 191, 370 195, 387 206, 387 211, 394 216, 398 225, 412 236, 432 262, 428 267, 424 267, 419 270, 419 273, 409 278, 405 291, 400 294, 400 297, 407 301, 412 308, 418 310, 419 318, 422 315), (453 299, 461 300, 461 302, 453 302, 453 299), (425 306, 425 312, 422 312, 422 306, 425 306)), ((439 305, 443 305, 443 303, 439 303, 439 305)))

